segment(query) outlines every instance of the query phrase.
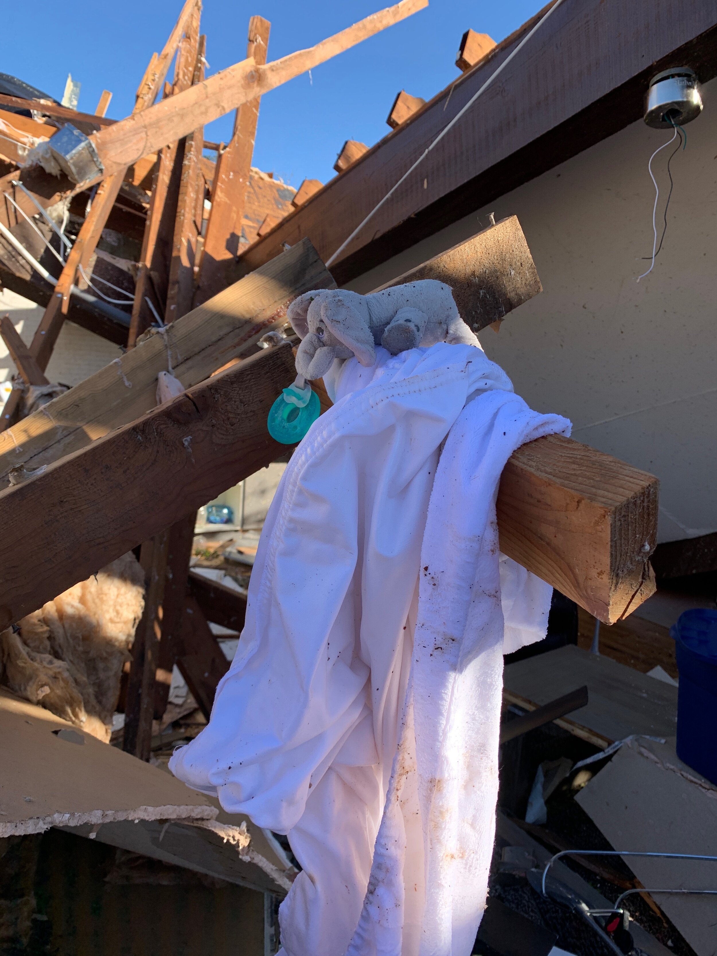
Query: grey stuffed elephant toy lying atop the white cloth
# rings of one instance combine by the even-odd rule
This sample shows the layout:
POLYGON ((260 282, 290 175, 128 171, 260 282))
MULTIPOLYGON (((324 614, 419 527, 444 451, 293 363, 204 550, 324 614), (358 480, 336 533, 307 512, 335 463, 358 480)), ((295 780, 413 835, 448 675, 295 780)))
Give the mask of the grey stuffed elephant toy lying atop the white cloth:
POLYGON ((334 359, 356 356, 361 365, 373 365, 377 345, 391 355, 436 342, 478 345, 450 286, 435 279, 368 295, 344 289, 304 293, 289 306, 287 317, 301 338, 296 371, 310 380, 323 378, 334 359))

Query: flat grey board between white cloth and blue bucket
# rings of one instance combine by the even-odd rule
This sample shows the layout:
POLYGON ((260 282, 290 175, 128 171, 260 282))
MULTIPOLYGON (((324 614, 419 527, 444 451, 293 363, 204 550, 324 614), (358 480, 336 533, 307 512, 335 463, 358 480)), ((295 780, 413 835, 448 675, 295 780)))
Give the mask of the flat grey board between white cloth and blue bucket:
POLYGON ((573 718, 556 721, 559 727, 597 746, 633 733, 669 737, 676 732, 677 687, 574 645, 509 664, 504 696, 518 706, 542 706, 582 684, 588 687, 587 706, 573 718))

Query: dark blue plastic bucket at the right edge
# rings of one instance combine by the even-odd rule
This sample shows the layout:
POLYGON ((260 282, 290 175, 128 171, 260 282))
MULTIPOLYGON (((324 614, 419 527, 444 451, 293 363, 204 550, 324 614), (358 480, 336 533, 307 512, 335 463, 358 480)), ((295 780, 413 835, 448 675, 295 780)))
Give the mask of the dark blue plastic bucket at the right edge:
POLYGON ((717 610, 685 611, 670 634, 680 671, 677 755, 717 784, 717 610))

